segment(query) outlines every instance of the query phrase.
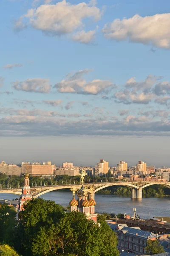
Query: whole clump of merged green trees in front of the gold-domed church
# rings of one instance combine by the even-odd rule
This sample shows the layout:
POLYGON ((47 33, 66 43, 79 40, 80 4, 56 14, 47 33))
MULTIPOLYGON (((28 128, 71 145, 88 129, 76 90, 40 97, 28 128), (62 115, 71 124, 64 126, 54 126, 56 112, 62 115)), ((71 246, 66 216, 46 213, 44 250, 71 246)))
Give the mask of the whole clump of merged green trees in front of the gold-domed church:
POLYGON ((82 212, 65 213, 53 201, 33 199, 20 212, 14 248, 23 256, 119 256, 115 233, 105 219, 101 223, 82 212))

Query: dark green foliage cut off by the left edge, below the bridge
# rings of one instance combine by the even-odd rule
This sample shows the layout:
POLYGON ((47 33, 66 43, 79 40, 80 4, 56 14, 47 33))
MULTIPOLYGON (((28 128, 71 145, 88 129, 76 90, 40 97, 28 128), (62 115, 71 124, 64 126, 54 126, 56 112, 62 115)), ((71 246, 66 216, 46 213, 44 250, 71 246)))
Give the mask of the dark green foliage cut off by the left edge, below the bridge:
POLYGON ((0 205, 0 242, 9 242, 11 230, 16 226, 16 211, 13 206, 0 205))

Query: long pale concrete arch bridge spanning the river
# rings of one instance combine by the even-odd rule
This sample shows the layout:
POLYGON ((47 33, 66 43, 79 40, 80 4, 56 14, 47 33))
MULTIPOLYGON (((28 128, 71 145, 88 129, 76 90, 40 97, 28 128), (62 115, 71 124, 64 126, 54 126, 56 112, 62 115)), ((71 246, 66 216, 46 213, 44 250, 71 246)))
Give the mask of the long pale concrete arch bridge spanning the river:
MULTIPOLYGON (((131 188, 131 198, 142 198, 142 189, 144 189, 147 186, 152 185, 163 185, 167 188, 170 188, 170 182, 164 182, 164 181, 116 181, 116 182, 99 182, 99 183, 85 183, 84 186, 87 186, 90 188, 91 186, 94 187, 94 194, 95 192, 99 191, 100 189, 105 189, 110 186, 126 186, 131 188)), ((80 184, 68 184, 68 185, 53 185, 53 186, 36 186, 36 187, 30 187, 31 194, 34 198, 39 197, 40 195, 43 195, 45 193, 48 193, 50 191, 58 190, 58 189, 72 189, 72 188, 80 188, 80 184)), ((11 188, 11 189, 0 189, 0 193, 10 193, 15 195, 22 195, 22 187, 20 188, 11 188)), ((94 198, 94 195, 93 195, 94 198)))

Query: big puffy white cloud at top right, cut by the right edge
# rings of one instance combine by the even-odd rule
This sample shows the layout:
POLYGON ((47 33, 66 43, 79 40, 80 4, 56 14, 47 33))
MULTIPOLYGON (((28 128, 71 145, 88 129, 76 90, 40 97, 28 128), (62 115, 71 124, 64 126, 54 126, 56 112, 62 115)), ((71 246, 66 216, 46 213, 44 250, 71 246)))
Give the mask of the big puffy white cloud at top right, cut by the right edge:
POLYGON ((105 24, 102 32, 108 39, 151 44, 170 49, 170 13, 141 17, 134 15, 123 20, 115 19, 105 24))

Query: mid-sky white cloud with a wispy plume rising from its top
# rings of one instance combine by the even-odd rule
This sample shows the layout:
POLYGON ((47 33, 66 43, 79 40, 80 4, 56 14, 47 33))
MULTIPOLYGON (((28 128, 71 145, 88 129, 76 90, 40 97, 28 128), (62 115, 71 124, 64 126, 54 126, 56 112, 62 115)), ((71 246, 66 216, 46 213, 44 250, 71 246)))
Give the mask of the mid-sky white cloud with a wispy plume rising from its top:
POLYGON ((73 76, 67 77, 55 84, 54 87, 60 93, 79 93, 79 94, 94 94, 107 93, 111 89, 115 88, 115 85, 111 81, 95 79, 90 82, 86 82, 82 78, 85 74, 88 74, 90 70, 79 70, 73 76))

